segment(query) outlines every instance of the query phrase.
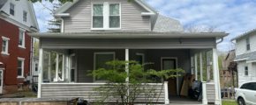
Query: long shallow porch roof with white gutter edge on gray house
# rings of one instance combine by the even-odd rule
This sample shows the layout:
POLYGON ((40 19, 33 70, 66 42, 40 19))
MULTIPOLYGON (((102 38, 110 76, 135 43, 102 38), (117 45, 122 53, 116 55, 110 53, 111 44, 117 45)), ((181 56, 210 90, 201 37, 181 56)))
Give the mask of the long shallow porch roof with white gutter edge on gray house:
POLYGON ((88 31, 88 32, 33 32, 34 38, 223 38, 225 32, 159 32, 159 31, 88 31))

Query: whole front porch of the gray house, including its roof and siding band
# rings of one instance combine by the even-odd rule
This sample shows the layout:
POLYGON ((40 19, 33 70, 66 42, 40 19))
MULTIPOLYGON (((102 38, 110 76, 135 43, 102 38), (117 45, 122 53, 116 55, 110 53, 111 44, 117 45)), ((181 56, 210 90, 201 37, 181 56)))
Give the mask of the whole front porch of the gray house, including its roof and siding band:
MULTIPOLYGON (((185 73, 182 73, 182 76, 169 83, 165 82, 164 88, 159 89, 161 95, 159 102, 168 104, 169 95, 180 95, 184 75, 192 73, 195 75, 195 81, 202 82, 201 103, 221 103, 216 40, 227 36, 228 33, 91 31, 30 33, 29 35, 40 38, 41 41, 38 97, 79 96, 88 99, 89 92, 104 83, 92 76, 87 76, 87 70, 97 68, 98 64, 95 62, 98 60, 105 62, 102 58, 112 58, 153 62, 154 64, 144 67, 157 71, 166 67, 183 69, 185 73), (59 58, 58 53, 62 53, 63 56, 62 78, 57 79, 59 68, 56 64, 56 81, 52 81, 50 76, 51 65, 44 69, 46 60, 42 60, 48 56, 48 63, 51 64, 53 52, 56 52, 56 62, 59 58), (101 54, 104 57, 99 56, 100 59, 96 59, 101 54), (42 83, 43 77, 47 77, 44 79, 49 80, 49 83, 42 83)), ((154 85, 158 88, 159 84, 156 82, 152 84, 154 85)), ((145 100, 141 99, 139 102, 145 102, 145 100)))

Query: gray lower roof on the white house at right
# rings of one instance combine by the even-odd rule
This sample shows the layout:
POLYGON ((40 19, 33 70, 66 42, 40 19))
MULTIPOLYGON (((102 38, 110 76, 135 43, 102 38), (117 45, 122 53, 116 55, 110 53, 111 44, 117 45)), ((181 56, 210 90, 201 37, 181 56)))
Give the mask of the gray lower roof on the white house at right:
POLYGON ((239 60, 239 59, 246 59, 247 62, 256 60, 256 51, 237 55, 237 57, 234 60, 239 60), (246 58, 248 58, 248 59, 246 59, 246 58))

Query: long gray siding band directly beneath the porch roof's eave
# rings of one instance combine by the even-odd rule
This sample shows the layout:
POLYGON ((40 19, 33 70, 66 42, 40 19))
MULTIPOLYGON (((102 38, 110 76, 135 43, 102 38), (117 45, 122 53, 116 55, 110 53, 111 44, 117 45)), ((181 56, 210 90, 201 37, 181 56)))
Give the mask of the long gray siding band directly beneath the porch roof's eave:
POLYGON ((41 38, 42 48, 60 49, 202 49, 215 48, 215 38, 41 38))

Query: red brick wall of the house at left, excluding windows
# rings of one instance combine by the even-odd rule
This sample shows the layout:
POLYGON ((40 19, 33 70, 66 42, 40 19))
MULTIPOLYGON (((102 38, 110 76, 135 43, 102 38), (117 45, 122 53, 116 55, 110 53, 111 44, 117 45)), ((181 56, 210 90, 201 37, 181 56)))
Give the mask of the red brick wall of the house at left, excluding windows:
MULTIPOLYGON (((26 31, 26 33, 29 31, 26 31)), ((6 69, 4 70, 5 80, 4 82, 4 89, 5 92, 8 90, 17 90, 18 83, 24 83, 23 79, 18 79, 18 57, 24 58, 24 77, 26 78, 26 74, 29 75, 29 62, 30 62, 30 47, 31 47, 31 37, 25 34, 25 47, 20 48, 19 45, 19 27, 16 25, 12 25, 0 19, 0 47, 2 52, 2 44, 3 38, 10 38, 9 46, 8 46, 8 53, 10 55, 5 55, 0 53, 0 62, 3 62, 4 65, 0 66, 6 69), (6 66, 5 66, 6 64, 6 66)))

